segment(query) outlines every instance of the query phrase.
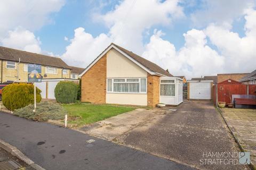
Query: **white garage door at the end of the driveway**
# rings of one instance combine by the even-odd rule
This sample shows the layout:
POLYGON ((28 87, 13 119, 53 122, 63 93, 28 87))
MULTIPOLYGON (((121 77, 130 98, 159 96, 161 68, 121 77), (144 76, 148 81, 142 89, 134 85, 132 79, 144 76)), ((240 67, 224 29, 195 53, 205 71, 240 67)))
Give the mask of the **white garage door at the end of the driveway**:
POLYGON ((190 82, 190 99, 211 99, 211 82, 190 82))

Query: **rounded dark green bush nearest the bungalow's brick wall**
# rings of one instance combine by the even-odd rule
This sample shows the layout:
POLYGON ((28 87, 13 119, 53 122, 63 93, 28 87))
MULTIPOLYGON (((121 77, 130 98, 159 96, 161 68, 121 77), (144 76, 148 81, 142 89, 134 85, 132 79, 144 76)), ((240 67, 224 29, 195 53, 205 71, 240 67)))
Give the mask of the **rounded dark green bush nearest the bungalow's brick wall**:
POLYGON ((54 90, 59 103, 75 103, 77 99, 77 84, 71 81, 60 81, 54 90))

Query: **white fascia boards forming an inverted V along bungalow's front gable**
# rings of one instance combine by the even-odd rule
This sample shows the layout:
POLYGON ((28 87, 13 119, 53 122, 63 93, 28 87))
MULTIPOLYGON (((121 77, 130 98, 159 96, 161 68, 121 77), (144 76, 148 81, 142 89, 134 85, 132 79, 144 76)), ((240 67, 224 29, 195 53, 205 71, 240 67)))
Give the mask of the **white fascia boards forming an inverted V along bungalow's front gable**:
MULTIPOLYGON (((132 62, 134 62, 135 64, 137 64, 138 66, 140 66, 143 70, 145 70, 146 72, 148 72, 151 75, 157 75, 159 73, 155 73, 155 72, 151 72, 150 70, 148 70, 145 66, 141 65, 139 62, 135 61, 132 57, 130 57, 129 55, 127 55, 126 53, 124 53, 122 50, 120 50, 119 48, 117 48, 115 45, 111 45, 109 46, 96 60, 94 60, 84 71, 83 73, 81 73, 79 75, 79 77, 82 77, 84 75, 84 73, 86 73, 95 63, 97 63, 100 58, 105 55, 111 48, 116 49, 119 53, 123 54, 125 57, 129 58, 132 62)), ((162 74, 161 74, 162 75, 162 74)))

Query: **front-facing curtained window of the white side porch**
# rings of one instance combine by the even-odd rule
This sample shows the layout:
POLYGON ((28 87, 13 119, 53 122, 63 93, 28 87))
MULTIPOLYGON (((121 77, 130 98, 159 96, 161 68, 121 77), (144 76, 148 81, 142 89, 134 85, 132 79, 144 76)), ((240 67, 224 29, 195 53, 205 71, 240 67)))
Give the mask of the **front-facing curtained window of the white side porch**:
POLYGON ((160 96, 175 96, 175 81, 161 80, 160 96))

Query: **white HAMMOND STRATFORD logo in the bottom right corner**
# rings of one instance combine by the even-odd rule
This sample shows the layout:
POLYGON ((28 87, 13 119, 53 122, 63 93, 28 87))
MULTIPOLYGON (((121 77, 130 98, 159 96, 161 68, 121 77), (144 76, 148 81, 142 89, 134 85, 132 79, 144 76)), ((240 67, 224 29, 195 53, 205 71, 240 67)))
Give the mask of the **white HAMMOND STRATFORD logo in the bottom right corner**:
POLYGON ((200 165, 249 165, 250 152, 203 152, 200 165))

